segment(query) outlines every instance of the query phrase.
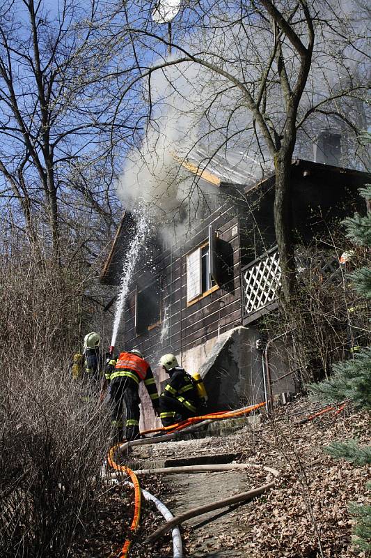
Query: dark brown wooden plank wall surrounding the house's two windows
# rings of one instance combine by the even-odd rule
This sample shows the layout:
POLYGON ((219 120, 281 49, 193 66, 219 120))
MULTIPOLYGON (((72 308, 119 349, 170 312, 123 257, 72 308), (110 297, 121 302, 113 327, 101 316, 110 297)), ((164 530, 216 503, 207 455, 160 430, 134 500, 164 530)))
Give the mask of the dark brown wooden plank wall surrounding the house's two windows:
POLYGON ((136 270, 133 289, 128 296, 125 310, 125 347, 139 347, 153 364, 161 353, 176 354, 187 351, 242 324, 240 287, 239 211, 226 204, 215 214, 205 219, 200 230, 184 246, 166 250, 157 258, 155 268, 162 278, 162 322, 143 335, 136 335, 135 284, 143 277, 143 268, 136 270), (231 247, 233 266, 232 277, 219 289, 200 301, 187 307, 186 257, 189 250, 207 241, 208 226, 213 225, 219 238, 231 247), (232 236, 233 227, 237 234, 232 236), (167 315, 167 316, 166 316, 167 315), (164 335, 164 319, 168 320, 168 330, 164 335), (162 339, 161 339, 162 332, 162 339))

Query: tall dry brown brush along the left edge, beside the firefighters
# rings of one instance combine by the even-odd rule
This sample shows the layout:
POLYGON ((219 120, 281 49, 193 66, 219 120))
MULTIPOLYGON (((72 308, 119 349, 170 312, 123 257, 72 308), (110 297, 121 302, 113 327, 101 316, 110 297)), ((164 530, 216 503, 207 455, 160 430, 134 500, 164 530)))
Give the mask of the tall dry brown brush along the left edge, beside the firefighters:
MULTIPOLYGON (((65 250, 68 250, 66 243, 65 250)), ((72 252, 72 250, 70 250, 72 252)), ((0 556, 63 558, 101 494, 109 440, 97 386, 70 374, 88 322, 86 269, 4 231, 0 252, 0 556), (86 392, 90 400, 85 401, 86 392), (83 400, 84 396, 84 400, 83 400)), ((91 282, 91 281, 90 281, 91 282)))

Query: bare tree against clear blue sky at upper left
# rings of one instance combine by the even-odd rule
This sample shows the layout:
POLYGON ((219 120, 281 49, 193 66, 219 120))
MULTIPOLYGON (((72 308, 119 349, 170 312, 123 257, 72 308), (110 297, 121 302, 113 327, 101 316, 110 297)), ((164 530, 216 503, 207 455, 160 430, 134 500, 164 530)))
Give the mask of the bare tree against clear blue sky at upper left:
POLYGON ((0 8, 1 196, 22 209, 35 245, 33 214, 46 218, 56 262, 71 208, 112 223, 113 153, 136 130, 123 111, 112 126, 116 64, 127 52, 125 36, 106 33, 114 14, 101 8, 96 0, 54 8, 7 0, 0 8))

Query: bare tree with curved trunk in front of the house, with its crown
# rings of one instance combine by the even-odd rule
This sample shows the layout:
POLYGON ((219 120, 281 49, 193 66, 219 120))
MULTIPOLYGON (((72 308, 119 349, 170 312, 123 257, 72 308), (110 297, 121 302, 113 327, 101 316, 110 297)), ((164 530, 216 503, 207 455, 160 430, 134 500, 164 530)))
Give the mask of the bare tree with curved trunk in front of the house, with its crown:
MULTIPOLYGON (((153 128, 156 76, 165 75, 168 103, 171 89, 178 96, 174 119, 181 119, 190 96, 195 112, 202 112, 191 148, 209 142, 203 164, 232 146, 253 155, 257 167, 267 169, 271 161, 276 175, 274 224, 283 298, 289 306, 296 292, 290 173, 298 133, 308 135, 309 120, 315 130, 320 119, 332 119, 356 135, 360 111, 354 109, 354 103, 363 103, 367 86, 365 75, 360 77, 357 72, 367 56, 362 32, 354 26, 352 10, 334 2, 191 3, 176 16, 172 34, 167 33, 167 26, 151 21, 150 6, 140 14, 134 10, 135 3, 133 9, 125 8, 132 14, 127 16, 125 30, 141 47, 136 52, 132 82, 122 98, 147 80, 153 128), (170 56, 166 50, 171 51, 170 56), (189 72, 192 87, 198 80, 198 94, 197 88, 182 89, 184 80, 179 76, 173 79, 174 67, 182 77, 187 68, 200 68, 198 75, 189 72), (345 100, 353 102, 354 114, 345 100)), ((161 133, 166 130, 159 130, 161 133)))

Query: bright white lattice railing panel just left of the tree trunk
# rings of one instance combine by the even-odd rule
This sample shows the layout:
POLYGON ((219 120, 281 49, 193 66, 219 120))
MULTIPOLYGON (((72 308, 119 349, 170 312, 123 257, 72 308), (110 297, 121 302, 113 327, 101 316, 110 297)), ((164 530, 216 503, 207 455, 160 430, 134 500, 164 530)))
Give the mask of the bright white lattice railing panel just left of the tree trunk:
POLYGON ((280 285, 281 267, 277 250, 242 270, 244 315, 258 312, 267 304, 275 301, 280 285))

